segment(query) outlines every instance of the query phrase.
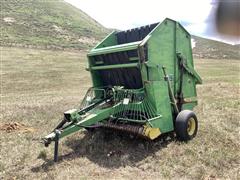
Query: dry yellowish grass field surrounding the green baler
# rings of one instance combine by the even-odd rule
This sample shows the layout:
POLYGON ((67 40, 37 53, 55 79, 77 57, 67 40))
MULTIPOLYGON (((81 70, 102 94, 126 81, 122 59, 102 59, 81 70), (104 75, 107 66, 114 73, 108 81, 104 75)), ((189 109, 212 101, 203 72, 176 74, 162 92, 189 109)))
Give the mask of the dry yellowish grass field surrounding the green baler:
POLYGON ((54 164, 53 146, 39 141, 91 86, 85 54, 1 48, 0 179, 240 178, 239 60, 195 60, 203 85, 194 140, 83 130, 62 139, 54 164))

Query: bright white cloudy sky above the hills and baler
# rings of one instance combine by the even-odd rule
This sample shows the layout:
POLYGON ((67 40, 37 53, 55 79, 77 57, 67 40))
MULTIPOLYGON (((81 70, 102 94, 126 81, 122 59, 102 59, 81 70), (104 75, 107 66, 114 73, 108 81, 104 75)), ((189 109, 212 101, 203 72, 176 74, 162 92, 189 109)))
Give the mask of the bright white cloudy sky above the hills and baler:
POLYGON ((179 21, 191 34, 239 43, 215 32, 212 0, 65 0, 107 28, 125 30, 164 20, 179 21))

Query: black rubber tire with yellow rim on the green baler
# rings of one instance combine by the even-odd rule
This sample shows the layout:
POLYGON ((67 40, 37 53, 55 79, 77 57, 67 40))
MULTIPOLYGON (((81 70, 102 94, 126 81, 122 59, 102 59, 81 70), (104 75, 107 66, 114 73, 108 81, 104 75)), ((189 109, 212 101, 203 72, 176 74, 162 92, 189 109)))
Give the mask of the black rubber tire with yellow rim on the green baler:
POLYGON ((177 115, 176 122, 175 122, 175 132, 176 132, 177 138, 180 141, 188 141, 193 139, 197 135, 197 130, 198 130, 198 120, 197 120, 197 116, 193 111, 183 110, 177 115), (190 128, 191 130, 188 129, 189 123, 195 124, 195 125, 191 125, 193 126, 193 129, 190 128))

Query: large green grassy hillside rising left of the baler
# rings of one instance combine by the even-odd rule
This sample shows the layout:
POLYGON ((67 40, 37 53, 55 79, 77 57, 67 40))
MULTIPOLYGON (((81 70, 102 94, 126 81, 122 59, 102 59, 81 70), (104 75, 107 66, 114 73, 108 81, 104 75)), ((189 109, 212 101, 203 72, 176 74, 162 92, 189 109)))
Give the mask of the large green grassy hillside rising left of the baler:
POLYGON ((88 48, 108 32, 63 0, 2 0, 0 45, 88 48))

